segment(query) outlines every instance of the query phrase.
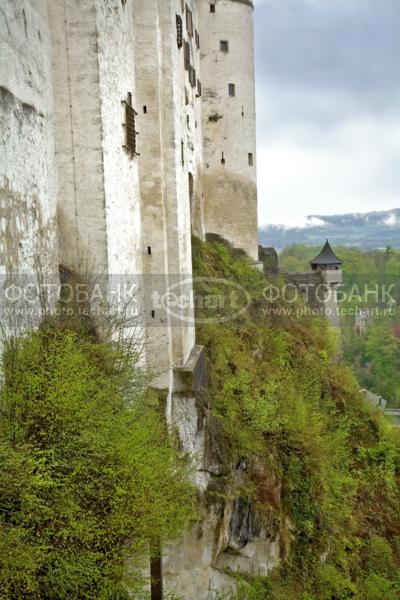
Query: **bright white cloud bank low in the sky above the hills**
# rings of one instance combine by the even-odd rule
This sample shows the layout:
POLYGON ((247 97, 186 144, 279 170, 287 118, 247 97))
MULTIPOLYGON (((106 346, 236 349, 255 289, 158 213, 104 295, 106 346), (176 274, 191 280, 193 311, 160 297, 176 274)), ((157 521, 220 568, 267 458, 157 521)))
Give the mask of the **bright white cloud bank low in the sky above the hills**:
POLYGON ((261 225, 399 205, 400 121, 359 118, 315 134, 293 125, 260 140, 261 225))

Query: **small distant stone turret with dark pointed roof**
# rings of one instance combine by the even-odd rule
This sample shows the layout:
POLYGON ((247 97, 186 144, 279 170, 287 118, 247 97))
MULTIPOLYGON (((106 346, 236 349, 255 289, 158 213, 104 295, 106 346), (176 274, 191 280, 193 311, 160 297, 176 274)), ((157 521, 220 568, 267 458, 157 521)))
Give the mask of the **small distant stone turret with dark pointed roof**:
POLYGON ((337 288, 342 283, 342 261, 326 241, 321 252, 311 261, 311 269, 320 273, 323 290, 318 291, 318 300, 323 305, 326 317, 332 327, 340 329, 337 288))

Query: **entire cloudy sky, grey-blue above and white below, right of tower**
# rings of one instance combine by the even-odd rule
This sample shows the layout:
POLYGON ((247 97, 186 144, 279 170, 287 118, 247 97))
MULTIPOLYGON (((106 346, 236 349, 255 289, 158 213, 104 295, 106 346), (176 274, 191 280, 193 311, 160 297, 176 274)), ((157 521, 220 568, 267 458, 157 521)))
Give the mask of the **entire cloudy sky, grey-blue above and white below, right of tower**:
POLYGON ((256 0, 259 222, 400 207, 400 0, 256 0))

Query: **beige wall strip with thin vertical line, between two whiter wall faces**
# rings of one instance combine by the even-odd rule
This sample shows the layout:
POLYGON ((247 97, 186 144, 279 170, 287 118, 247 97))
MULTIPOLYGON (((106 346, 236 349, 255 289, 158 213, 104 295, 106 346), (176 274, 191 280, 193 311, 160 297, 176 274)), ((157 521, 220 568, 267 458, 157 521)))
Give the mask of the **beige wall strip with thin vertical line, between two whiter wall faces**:
POLYGON ((96 2, 49 2, 53 38, 61 261, 107 270, 96 2))

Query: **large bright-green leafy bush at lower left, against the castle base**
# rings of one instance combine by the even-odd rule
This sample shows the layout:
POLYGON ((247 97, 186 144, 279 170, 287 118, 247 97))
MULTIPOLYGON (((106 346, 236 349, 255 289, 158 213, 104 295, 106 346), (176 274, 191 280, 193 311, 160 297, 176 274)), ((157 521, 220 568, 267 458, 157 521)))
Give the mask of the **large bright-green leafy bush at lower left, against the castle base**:
POLYGON ((0 597, 129 597, 132 558, 179 536, 194 505, 136 352, 45 322, 3 362, 0 597))

